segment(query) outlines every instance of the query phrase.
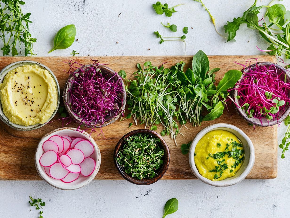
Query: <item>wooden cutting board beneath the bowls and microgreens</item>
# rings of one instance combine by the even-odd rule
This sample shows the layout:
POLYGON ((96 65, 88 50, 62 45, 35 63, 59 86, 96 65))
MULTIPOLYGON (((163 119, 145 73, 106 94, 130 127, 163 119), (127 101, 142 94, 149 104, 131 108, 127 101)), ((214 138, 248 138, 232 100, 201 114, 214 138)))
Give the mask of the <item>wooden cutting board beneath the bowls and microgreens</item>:
MULTIPOLYGON (((216 74, 216 80, 219 81, 225 72, 230 69, 240 69, 241 66, 234 63, 245 63, 249 58, 258 58, 258 61, 270 61, 276 63, 273 56, 209 56, 210 68, 220 67, 221 70, 216 74)), ((64 61, 76 60, 79 63, 92 63, 90 59, 99 60, 100 63, 107 63, 108 67, 119 71, 124 69, 130 77, 137 70, 136 64, 141 65, 146 61, 151 61, 153 65, 171 67, 175 63, 184 61, 186 70, 192 64, 192 56, 102 56, 102 57, 0 57, 0 70, 6 65, 15 61, 32 60, 40 62, 49 67, 57 76, 61 93, 64 84, 68 78, 66 73, 68 64, 64 61)), ((52 120, 59 118, 59 114, 52 120)), ((113 162, 113 151, 118 140, 134 129, 142 129, 144 126, 133 125, 128 129, 131 119, 116 121, 103 128, 105 138, 93 133, 93 138, 101 150, 101 167, 95 179, 122 179, 113 162)), ((271 179, 277 177, 277 126, 274 127, 257 127, 255 130, 250 127, 236 113, 233 106, 229 111, 214 120, 202 122, 200 127, 193 127, 190 123, 186 126, 189 129, 182 128, 184 134, 178 135, 176 140, 178 146, 175 146, 169 136, 164 137, 170 149, 170 164, 163 179, 196 179, 193 175, 188 162, 188 155, 182 155, 180 145, 193 140, 195 135, 204 127, 214 123, 229 123, 242 129, 253 141, 255 147, 255 164, 247 178, 249 179, 271 179)), ((62 127, 61 121, 55 121, 46 124, 32 131, 17 131, 2 121, 0 122, 0 180, 39 180, 34 165, 34 153, 37 144, 46 133, 62 127)), ((77 124, 69 124, 68 127, 77 127, 77 124)), ((162 127, 157 129, 158 132, 162 127)))

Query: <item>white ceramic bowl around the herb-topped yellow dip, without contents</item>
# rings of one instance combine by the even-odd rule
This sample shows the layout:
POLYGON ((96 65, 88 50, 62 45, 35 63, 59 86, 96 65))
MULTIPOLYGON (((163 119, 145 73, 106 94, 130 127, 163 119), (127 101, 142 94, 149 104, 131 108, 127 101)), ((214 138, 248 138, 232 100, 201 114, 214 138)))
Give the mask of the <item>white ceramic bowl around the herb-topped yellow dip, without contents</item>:
POLYGON ((197 133, 197 135, 193 139, 190 149, 189 149, 189 164, 190 164, 193 174, 202 182, 212 185, 212 186, 225 187, 225 186, 231 186, 231 185, 241 182, 250 173, 251 169, 253 168, 254 162, 255 162, 255 151, 254 151, 254 146, 253 146, 252 141, 238 127, 235 127, 233 125, 226 124, 226 123, 213 124, 211 126, 208 126, 202 129, 199 133, 197 133), (235 176, 226 178, 220 181, 212 181, 210 179, 203 177, 198 172, 195 166, 194 153, 195 153, 195 147, 196 147, 197 142, 199 142, 199 140, 206 133, 213 130, 218 130, 218 129, 229 131, 233 133, 235 136, 237 136, 237 138, 240 140, 240 142, 244 146, 245 157, 244 157, 244 162, 242 163, 241 168, 239 169, 239 171, 236 173, 235 176))

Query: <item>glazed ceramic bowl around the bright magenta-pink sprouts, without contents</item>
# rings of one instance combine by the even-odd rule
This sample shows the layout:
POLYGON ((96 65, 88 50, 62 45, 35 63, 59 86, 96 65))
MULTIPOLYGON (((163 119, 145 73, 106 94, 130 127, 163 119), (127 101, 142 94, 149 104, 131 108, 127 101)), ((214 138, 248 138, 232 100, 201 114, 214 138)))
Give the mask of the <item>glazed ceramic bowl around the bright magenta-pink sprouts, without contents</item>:
MULTIPOLYGON (((259 63, 252 64, 249 67, 243 69, 242 72, 247 73, 247 72, 249 72, 249 69, 254 69, 257 65, 258 66, 267 66, 267 67, 269 67, 271 65, 275 65, 276 69, 278 69, 278 74, 283 72, 283 75, 286 74, 287 82, 288 83, 290 82, 290 73, 284 67, 281 67, 280 65, 275 64, 275 63, 271 63, 271 62, 259 62, 259 63)), ((244 74, 242 74, 242 77, 240 78, 238 83, 242 80, 243 76, 244 76, 244 74)), ((234 106, 235 106, 235 109, 238 112, 238 114, 247 122, 249 122, 253 125, 256 125, 256 126, 260 126, 260 127, 269 127, 269 126, 273 126, 273 125, 278 124, 278 120, 280 120, 280 122, 285 120, 285 118, 290 113, 290 107, 289 107, 290 105, 288 105, 284 112, 279 113, 278 120, 275 119, 275 120, 269 121, 267 118, 262 118, 261 120, 258 118, 253 118, 253 117, 249 118, 248 115, 246 114, 246 111, 240 108, 241 105, 239 104, 239 100, 236 98, 238 96, 238 90, 236 90, 238 87, 239 87, 239 85, 235 85, 233 87, 234 90, 232 91, 233 99, 234 99, 235 103, 238 105, 237 106, 236 104, 234 104, 234 106), (261 123, 261 121, 262 121, 262 123, 261 123)))

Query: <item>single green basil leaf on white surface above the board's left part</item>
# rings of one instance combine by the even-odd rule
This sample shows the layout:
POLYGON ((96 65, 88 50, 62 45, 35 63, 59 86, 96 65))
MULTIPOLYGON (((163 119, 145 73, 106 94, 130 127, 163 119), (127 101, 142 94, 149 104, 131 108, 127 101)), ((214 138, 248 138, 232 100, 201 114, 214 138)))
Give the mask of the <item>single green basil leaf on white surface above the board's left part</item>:
POLYGON ((50 50, 48 53, 56 49, 66 49, 70 47, 75 41, 76 33, 77 30, 73 24, 61 28, 55 36, 52 50, 50 50))

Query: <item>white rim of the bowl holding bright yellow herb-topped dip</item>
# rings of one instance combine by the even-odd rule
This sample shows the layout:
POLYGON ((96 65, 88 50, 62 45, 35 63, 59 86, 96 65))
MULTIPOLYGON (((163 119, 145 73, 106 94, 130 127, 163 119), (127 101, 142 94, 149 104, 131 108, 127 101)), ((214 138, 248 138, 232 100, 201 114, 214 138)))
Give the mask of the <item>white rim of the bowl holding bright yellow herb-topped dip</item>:
POLYGON ((213 124, 213 125, 210 125, 208 127, 205 127, 204 129, 202 129, 199 133, 197 133, 197 135, 193 139, 191 146, 190 146, 190 149, 189 149, 189 164, 190 164, 190 167, 191 167, 193 174, 198 179, 200 179, 202 182, 209 184, 211 186, 225 187, 225 186, 231 186, 231 185, 234 185, 234 184, 241 182, 250 173, 251 169, 253 168, 254 162, 255 162, 255 149, 254 149, 253 142, 251 141, 251 139, 240 128, 238 128, 234 125, 231 125, 231 124, 227 124, 227 123, 217 123, 217 124, 213 124), (194 161, 195 147, 197 145, 197 142, 206 133, 208 133, 212 130, 221 129, 221 128, 227 128, 227 129, 231 129, 233 131, 236 131, 246 140, 246 142, 249 146, 249 163, 247 164, 247 167, 244 169, 244 171, 235 178, 232 178, 229 180, 224 179, 224 180, 219 180, 219 181, 212 181, 210 179, 203 177, 198 172, 198 170, 195 166, 195 161, 194 161))

